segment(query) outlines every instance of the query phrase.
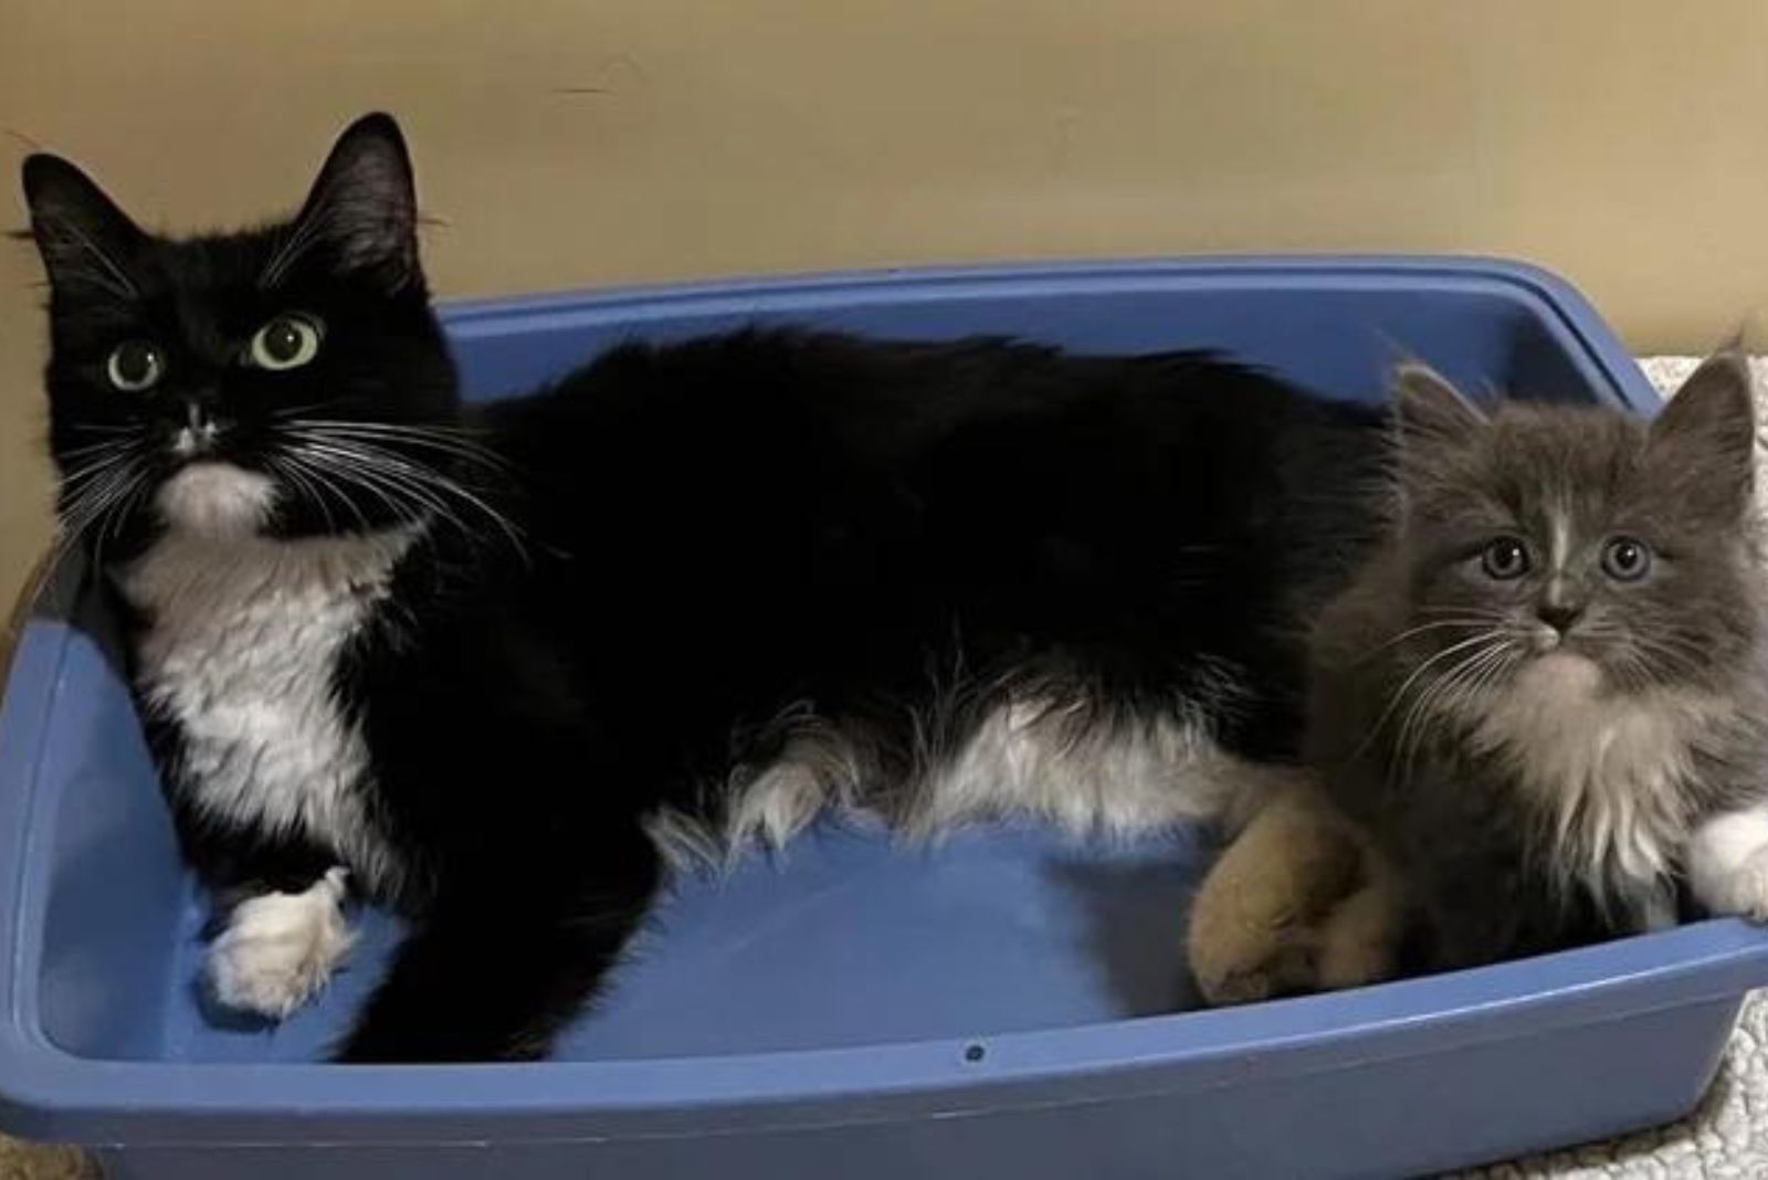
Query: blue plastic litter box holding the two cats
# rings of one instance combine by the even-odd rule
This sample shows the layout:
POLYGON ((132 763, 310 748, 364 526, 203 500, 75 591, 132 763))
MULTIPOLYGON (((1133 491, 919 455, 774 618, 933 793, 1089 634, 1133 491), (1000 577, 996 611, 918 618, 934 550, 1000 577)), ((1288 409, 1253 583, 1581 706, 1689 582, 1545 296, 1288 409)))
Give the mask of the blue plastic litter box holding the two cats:
MULTIPOLYGON (((1333 397, 1409 350, 1522 396, 1650 413, 1575 291, 1476 260, 1206 260, 886 272, 458 304, 476 397, 629 337, 810 321, 1218 346, 1333 397)), ((903 850, 826 827, 681 883, 610 1000, 539 1065, 313 1063, 384 922, 281 1028, 210 1012, 115 636, 58 571, 0 715, 0 1125, 117 1176, 1395 1175, 1658 1123, 1713 1076, 1768 934, 1715 920, 1588 950, 1186 1012, 1208 839, 1036 828, 903 850)))

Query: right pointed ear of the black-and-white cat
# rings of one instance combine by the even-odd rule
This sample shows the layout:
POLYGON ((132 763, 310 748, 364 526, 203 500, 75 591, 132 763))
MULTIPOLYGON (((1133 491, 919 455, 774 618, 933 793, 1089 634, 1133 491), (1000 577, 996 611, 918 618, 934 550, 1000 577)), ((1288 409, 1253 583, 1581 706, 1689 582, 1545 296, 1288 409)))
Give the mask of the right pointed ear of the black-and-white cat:
POLYGON ((320 244, 336 272, 371 277, 387 290, 417 276, 417 189, 391 115, 364 115, 338 136, 295 217, 290 240, 302 238, 320 244))

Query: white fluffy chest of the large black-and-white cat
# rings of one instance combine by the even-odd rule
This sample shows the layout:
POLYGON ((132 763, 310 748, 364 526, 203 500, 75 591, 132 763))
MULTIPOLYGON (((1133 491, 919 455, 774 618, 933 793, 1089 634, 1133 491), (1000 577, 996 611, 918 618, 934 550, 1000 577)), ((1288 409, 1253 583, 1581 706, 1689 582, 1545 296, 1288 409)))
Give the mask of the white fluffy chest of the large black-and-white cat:
POLYGON ((124 569, 118 585, 147 620, 136 689, 182 730, 179 783, 198 811, 304 832, 368 878, 392 871, 362 807, 368 751, 334 673, 412 539, 171 532, 124 569))

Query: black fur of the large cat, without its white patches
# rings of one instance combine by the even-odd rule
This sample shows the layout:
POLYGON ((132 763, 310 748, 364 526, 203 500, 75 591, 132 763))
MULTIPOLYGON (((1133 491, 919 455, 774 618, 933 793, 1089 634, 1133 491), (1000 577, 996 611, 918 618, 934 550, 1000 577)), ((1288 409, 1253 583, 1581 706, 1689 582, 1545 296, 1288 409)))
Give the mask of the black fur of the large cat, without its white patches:
MULTIPOLYGON (((164 479, 198 399, 228 422, 219 458, 281 480, 271 533, 431 521, 336 669, 371 756, 355 790, 405 869, 378 901, 415 920, 343 1058, 545 1053, 658 889, 645 818, 714 813, 810 717, 865 754, 886 811, 1025 689, 1089 717, 1202 708, 1231 751, 1294 754, 1299 624, 1368 526, 1368 412, 1206 353, 806 330, 626 346, 465 410, 403 168, 371 117, 295 221, 170 242, 69 164, 27 164, 64 480, 111 429, 140 431, 164 479), (309 249, 265 284, 301 233, 309 249), (239 366, 288 309, 324 316, 320 357, 239 366), (179 374, 147 399, 104 383, 108 350, 136 336, 179 374), (387 438, 453 489, 426 484, 437 505, 398 480, 288 479, 285 427, 315 405, 446 431, 431 438, 458 445, 387 438)), ((64 514, 120 565, 161 532, 145 488, 83 519, 74 482, 64 514)), ((210 883, 290 887, 338 859, 180 806, 177 724, 147 712, 210 883)))

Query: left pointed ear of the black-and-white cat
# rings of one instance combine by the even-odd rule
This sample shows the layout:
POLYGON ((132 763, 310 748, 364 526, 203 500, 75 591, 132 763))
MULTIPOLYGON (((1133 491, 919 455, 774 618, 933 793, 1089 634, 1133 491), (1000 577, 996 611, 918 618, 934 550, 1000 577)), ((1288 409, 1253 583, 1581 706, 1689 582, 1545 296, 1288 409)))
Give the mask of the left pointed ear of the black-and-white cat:
POLYGON ((30 237, 42 254, 50 286, 87 286, 134 299, 131 260, 145 237, 92 178, 60 155, 39 152, 21 170, 30 237))

